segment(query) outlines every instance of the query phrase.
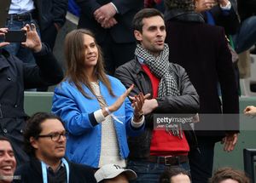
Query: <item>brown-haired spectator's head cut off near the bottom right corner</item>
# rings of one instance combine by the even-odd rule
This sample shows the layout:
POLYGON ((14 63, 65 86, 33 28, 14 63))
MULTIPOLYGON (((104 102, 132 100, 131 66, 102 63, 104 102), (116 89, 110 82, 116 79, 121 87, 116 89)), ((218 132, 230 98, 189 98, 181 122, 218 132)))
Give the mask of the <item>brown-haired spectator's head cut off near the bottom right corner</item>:
POLYGON ((222 168, 218 169, 212 176, 210 183, 250 183, 247 175, 236 169, 222 168))

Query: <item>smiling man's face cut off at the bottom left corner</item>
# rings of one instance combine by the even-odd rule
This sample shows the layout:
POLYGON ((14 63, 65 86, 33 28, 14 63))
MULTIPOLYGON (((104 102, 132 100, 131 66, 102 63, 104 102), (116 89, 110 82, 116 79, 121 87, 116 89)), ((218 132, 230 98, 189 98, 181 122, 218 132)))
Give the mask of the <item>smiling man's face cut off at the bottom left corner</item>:
POLYGON ((0 136, 0 183, 12 182, 16 169, 16 159, 9 139, 0 136))

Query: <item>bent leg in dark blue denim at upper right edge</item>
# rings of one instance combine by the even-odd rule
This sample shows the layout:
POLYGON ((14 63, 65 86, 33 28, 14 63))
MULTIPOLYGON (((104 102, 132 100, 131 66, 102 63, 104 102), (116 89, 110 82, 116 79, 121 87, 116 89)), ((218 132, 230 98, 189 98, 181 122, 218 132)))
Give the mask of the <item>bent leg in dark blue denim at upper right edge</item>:
POLYGON ((233 41, 237 54, 250 49, 256 43, 256 16, 241 22, 239 31, 233 36, 233 41))

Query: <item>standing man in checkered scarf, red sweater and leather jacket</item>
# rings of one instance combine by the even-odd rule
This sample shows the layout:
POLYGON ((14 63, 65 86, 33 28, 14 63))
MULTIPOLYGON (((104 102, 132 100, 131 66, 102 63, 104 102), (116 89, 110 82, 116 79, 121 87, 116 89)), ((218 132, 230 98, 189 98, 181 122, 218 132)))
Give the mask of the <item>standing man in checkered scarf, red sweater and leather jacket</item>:
MULTIPOLYGON (((158 182, 167 167, 179 166, 189 171, 188 153, 197 143, 189 123, 163 125, 158 130, 154 114, 162 117, 174 114, 195 115, 199 110, 199 96, 182 66, 169 62, 169 48, 165 44, 166 26, 156 9, 143 9, 133 19, 137 39, 135 59, 115 72, 125 87, 135 84, 133 96, 151 94, 145 100, 145 133, 129 137, 129 169, 137 173, 134 182, 158 182)), ((187 115, 188 116, 188 115, 187 115)))

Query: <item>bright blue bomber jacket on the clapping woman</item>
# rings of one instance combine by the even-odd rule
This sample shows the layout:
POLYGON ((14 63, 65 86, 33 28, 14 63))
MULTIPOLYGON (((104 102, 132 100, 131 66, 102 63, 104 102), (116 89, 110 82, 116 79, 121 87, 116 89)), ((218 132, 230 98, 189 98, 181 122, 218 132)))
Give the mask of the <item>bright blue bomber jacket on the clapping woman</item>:
MULTIPOLYGON (((109 81, 116 97, 108 93, 107 87, 102 82, 99 83, 107 106, 111 106, 126 90, 118 79, 109 76, 109 81)), ((52 112, 61 117, 70 133, 66 151, 68 159, 74 163, 88 164, 97 168, 101 153, 102 125, 96 122, 94 112, 101 107, 90 90, 86 86, 83 86, 83 89, 93 98, 85 98, 74 83, 69 83, 67 80, 62 82, 61 86, 55 89, 52 112)), ((143 132, 144 125, 139 129, 134 129, 131 126, 133 108, 128 98, 125 99, 118 111, 113 112, 113 115, 122 122, 113 120, 118 138, 119 155, 126 158, 129 154, 126 134, 130 136, 140 134, 143 132)))

